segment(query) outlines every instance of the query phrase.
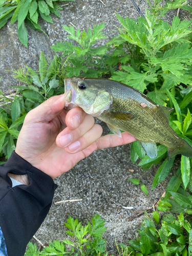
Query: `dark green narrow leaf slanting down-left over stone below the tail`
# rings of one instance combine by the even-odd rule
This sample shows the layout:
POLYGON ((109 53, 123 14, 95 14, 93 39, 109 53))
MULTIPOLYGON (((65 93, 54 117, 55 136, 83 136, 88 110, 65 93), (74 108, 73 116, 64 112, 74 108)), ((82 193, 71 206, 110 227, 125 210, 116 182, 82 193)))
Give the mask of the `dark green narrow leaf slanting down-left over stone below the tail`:
POLYGON ((165 161, 161 164, 159 169, 157 170, 157 173, 154 177, 153 184, 152 184, 152 190, 161 182, 163 181, 169 174, 170 170, 172 169, 173 163, 174 163, 175 157, 170 159, 169 161, 167 158, 165 161))

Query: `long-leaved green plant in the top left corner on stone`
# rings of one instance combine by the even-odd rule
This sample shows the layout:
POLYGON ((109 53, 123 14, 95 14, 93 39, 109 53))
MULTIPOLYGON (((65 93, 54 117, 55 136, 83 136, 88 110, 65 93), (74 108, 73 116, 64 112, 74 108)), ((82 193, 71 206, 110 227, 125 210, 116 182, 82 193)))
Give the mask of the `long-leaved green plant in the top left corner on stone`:
POLYGON ((7 23, 9 18, 12 17, 11 24, 18 20, 18 38, 27 47, 28 33, 25 27, 25 20, 32 29, 44 32, 38 23, 39 15, 46 22, 53 23, 50 13, 60 18, 58 10, 62 10, 62 8, 56 3, 56 0, 0 0, 0 29, 7 23))

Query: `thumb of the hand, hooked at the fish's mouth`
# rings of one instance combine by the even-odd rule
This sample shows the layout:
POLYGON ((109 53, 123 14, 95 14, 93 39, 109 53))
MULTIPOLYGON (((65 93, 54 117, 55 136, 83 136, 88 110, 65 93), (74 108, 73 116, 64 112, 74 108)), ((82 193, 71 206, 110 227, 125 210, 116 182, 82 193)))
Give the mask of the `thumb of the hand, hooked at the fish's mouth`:
MULTIPOLYGON (((65 108, 65 94, 53 96, 29 112, 30 121, 50 122, 65 108)), ((27 118, 28 119, 28 118, 27 118)))

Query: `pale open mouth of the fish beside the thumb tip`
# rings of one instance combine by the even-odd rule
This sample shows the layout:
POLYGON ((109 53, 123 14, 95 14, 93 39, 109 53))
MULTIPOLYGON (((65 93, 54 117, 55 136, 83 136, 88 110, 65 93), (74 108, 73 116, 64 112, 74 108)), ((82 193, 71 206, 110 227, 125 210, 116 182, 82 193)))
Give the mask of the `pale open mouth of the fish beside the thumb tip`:
POLYGON ((75 104, 76 91, 72 87, 71 79, 68 79, 68 78, 64 79, 64 84, 65 84, 65 101, 66 101, 65 109, 71 110, 75 108, 75 106, 77 106, 75 104))

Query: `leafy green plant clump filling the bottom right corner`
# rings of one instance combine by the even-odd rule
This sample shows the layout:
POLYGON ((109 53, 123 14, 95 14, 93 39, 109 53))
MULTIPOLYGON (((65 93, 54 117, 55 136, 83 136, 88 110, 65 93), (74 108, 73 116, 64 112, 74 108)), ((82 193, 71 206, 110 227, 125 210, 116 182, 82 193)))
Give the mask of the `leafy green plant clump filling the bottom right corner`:
MULTIPOLYGON (((155 222, 159 223, 159 213, 153 212, 155 222)), ((161 221, 160 229, 156 228, 152 218, 145 212, 140 238, 129 241, 129 246, 119 244, 123 251, 137 256, 179 256, 191 255, 192 230, 190 223, 181 213, 178 218, 166 214, 161 221)), ((127 255, 127 254, 126 254, 127 255)))

